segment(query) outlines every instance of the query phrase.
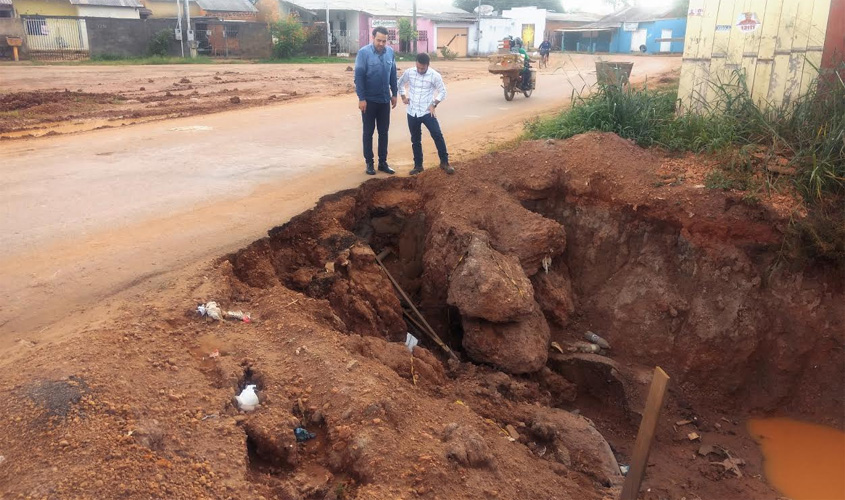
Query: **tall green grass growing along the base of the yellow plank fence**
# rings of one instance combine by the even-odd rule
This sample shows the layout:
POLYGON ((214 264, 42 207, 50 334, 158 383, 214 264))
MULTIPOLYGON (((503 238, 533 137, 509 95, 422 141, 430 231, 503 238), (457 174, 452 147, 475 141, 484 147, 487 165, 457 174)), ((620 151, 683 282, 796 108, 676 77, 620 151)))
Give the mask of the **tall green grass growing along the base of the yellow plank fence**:
MULTIPOLYGON (((643 147, 730 152, 728 171, 747 173, 753 156, 786 158, 796 187, 809 201, 845 195, 845 82, 838 76, 783 106, 758 105, 744 75, 711 84, 715 99, 697 114, 677 115, 677 90, 599 86, 573 93, 570 109, 526 123, 528 138, 565 139, 590 130, 614 132, 643 147), (752 153, 752 151, 754 151, 752 153)), ((732 189, 736 176, 712 174, 709 185, 732 189), (731 187, 727 187, 731 186, 731 187)))

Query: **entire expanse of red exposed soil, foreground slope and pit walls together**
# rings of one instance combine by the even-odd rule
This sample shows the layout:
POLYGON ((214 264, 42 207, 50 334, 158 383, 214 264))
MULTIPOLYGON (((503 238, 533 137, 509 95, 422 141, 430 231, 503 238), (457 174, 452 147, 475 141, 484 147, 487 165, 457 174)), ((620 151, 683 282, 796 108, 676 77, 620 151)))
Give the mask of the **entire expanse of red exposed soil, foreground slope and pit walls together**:
POLYGON ((326 197, 5 366, 0 491, 616 498, 660 365, 641 498, 775 498, 744 422, 843 428, 843 277, 780 265, 786 216, 662 182, 676 162, 591 133, 326 197), (460 361, 405 321, 387 249, 460 361), (254 321, 200 318, 207 300, 254 321), (569 352, 587 330, 611 348, 569 352), (247 382, 262 404, 239 413, 247 382), (744 459, 742 477, 703 444, 744 459))

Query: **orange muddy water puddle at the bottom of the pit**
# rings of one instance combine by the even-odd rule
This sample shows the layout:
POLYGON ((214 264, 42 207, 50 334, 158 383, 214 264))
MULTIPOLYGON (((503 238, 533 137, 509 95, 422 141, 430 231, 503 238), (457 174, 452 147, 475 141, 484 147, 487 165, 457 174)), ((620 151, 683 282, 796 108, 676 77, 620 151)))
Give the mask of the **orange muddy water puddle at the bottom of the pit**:
POLYGON ((766 477, 791 500, 845 500, 845 433, 788 418, 755 419, 748 430, 766 477))

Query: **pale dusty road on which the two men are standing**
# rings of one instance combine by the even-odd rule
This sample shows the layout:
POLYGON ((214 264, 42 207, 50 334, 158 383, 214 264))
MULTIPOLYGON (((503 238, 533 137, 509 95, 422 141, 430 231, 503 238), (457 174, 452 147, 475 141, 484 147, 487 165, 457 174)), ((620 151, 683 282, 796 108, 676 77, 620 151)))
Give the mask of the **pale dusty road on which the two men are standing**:
MULTIPOLYGON (((510 103, 485 62, 446 63, 450 93, 440 119, 456 166, 515 137, 523 120, 552 111, 566 103, 573 88, 594 82, 593 62, 588 56, 561 59, 541 73, 534 96, 510 103)), ((679 65, 679 58, 638 57, 634 76, 655 77, 679 65)), ((227 65, 225 70, 242 68, 260 67, 227 65)), ((103 91, 134 86, 133 79, 164 71, 119 68, 123 75, 118 76, 108 68, 96 82, 92 71, 101 68, 22 68, 25 78, 6 69, 5 92, 15 82, 40 88, 38 71, 105 83, 109 88, 103 91)), ((196 79, 183 74, 192 71, 213 77, 220 69, 179 67, 168 78, 196 79)), ((109 297, 154 287, 173 270, 260 238, 321 195, 367 180, 360 118, 345 90, 351 77, 345 66, 340 73, 332 88, 344 95, 328 92, 205 116, 0 143, 0 351, 11 354, 31 342, 61 337, 70 325, 56 327, 58 320, 102 319, 92 308, 108 308, 109 297)), ((330 76, 314 80, 321 78, 330 76)), ((401 104, 392 116, 390 160, 406 175, 412 161, 401 104)), ((426 158, 428 165, 436 158, 430 140, 426 158)))

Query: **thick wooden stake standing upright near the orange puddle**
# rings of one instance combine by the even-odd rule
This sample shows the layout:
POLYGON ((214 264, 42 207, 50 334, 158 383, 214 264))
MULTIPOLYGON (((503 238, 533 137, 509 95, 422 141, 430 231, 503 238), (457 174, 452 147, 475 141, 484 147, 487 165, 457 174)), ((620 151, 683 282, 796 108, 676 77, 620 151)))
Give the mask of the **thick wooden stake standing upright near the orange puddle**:
POLYGON ((622 486, 621 500, 636 500, 640 492, 640 485, 643 482, 645 469, 648 465, 651 442, 654 439, 654 430, 657 427, 657 417, 660 416, 660 409, 663 407, 663 398, 666 395, 668 383, 669 375, 666 375, 662 368, 656 366, 654 376, 651 378, 651 388, 648 391, 643 420, 640 422, 640 430, 637 432, 634 453, 631 456, 631 470, 628 471, 628 475, 625 477, 625 485, 622 486))

